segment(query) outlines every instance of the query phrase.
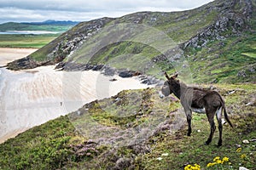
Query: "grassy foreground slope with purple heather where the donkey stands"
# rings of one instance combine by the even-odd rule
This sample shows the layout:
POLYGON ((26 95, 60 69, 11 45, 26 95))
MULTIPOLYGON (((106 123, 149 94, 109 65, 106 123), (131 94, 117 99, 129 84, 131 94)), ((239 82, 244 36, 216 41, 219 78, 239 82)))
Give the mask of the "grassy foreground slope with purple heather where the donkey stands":
POLYGON ((196 163, 201 169, 253 169, 256 86, 214 84, 214 88, 224 96, 234 125, 224 125, 220 148, 218 130, 212 143, 204 145, 210 132, 206 115, 193 115, 192 136, 187 137, 184 113, 177 110, 179 102, 160 99, 156 89, 148 88, 96 100, 20 133, 0 144, 0 168, 183 169, 196 163), (229 161, 207 167, 216 156, 229 161))

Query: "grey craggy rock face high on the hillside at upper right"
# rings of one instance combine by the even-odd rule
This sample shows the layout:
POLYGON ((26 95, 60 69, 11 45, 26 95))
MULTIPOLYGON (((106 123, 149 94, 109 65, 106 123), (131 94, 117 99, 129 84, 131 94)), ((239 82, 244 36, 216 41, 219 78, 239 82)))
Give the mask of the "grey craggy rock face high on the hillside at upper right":
POLYGON ((248 29, 246 22, 253 16, 252 1, 223 1, 219 3, 218 8, 223 8, 223 10, 219 10, 221 12, 218 14, 218 19, 188 42, 183 43, 182 48, 205 47, 207 42, 214 39, 223 40, 228 36, 239 36, 241 31, 248 29), (236 6, 241 7, 239 8, 240 12, 236 11, 238 10, 236 6), (230 31, 230 33, 224 33, 225 31, 230 31))

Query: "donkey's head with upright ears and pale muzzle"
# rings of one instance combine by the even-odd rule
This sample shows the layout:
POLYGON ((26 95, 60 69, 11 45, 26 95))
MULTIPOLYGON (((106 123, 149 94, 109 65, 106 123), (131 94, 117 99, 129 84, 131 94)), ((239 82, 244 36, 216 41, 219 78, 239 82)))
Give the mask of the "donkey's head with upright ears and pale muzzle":
POLYGON ((167 75, 167 73, 165 72, 165 76, 166 76, 166 82, 164 83, 163 88, 161 89, 160 92, 160 98, 164 98, 172 93, 175 93, 177 91, 177 88, 179 87, 179 81, 176 80, 177 78, 177 73, 175 73, 174 76, 169 77, 167 75))

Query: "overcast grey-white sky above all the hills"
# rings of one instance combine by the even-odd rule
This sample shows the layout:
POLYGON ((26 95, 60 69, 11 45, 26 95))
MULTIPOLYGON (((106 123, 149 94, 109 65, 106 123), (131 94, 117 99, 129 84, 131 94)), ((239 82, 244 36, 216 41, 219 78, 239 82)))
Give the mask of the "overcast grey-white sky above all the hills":
POLYGON ((137 11, 180 11, 212 0, 0 0, 0 23, 92 20, 137 11))

